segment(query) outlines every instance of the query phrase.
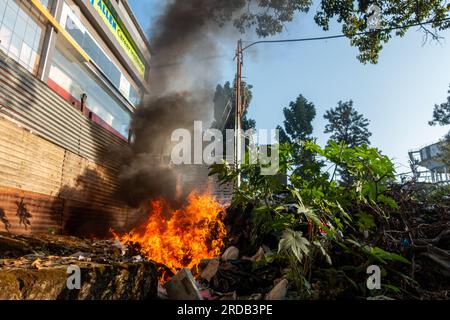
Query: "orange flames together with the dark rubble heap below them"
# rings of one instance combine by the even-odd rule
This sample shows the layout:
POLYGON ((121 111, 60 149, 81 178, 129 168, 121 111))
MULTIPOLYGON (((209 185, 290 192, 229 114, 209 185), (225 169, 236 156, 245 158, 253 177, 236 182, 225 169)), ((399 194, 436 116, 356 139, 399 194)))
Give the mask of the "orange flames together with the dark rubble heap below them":
MULTIPOLYGON (((207 193, 191 193, 187 203, 172 209, 167 201, 151 202, 148 220, 119 235, 132 255, 158 266, 159 297, 162 299, 263 299, 275 283, 271 299, 285 296, 287 282, 277 268, 255 268, 264 258, 261 248, 253 257, 239 249, 226 250, 225 209, 207 193)), ((269 248, 266 250, 270 251, 269 248)))

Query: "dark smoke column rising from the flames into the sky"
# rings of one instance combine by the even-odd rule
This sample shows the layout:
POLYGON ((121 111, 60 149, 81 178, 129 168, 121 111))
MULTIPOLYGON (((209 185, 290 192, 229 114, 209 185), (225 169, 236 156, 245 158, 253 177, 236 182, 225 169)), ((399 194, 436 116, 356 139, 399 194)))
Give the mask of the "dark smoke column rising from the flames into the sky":
POLYGON ((236 2, 242 1, 174 0, 151 27, 150 96, 133 117, 134 142, 119 176, 119 194, 128 204, 177 200, 180 181, 168 159, 171 134, 212 118, 220 71, 218 60, 207 58, 219 55, 218 44, 232 36, 216 18, 231 18, 241 8, 236 2))

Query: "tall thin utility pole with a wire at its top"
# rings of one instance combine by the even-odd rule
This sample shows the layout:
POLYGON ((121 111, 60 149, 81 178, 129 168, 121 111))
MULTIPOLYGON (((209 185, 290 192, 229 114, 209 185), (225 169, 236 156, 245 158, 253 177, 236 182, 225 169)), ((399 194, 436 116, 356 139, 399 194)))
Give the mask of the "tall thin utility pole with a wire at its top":
MULTIPOLYGON (((234 121, 234 158, 236 170, 241 168, 242 161, 242 145, 241 145, 241 130, 242 130, 242 40, 238 41, 236 50, 237 73, 236 73, 236 109, 234 121)), ((241 185, 241 175, 237 177, 237 186, 241 185)))

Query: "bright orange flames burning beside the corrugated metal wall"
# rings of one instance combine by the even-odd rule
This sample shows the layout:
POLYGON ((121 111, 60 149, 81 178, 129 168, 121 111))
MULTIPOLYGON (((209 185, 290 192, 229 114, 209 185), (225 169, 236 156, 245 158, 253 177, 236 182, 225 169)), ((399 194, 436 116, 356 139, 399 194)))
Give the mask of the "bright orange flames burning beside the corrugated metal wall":
POLYGON ((116 237, 123 244, 138 244, 147 259, 174 272, 220 254, 226 234, 221 219, 223 208, 212 196, 194 192, 182 208, 168 207, 164 200, 152 201, 146 223, 116 237))

